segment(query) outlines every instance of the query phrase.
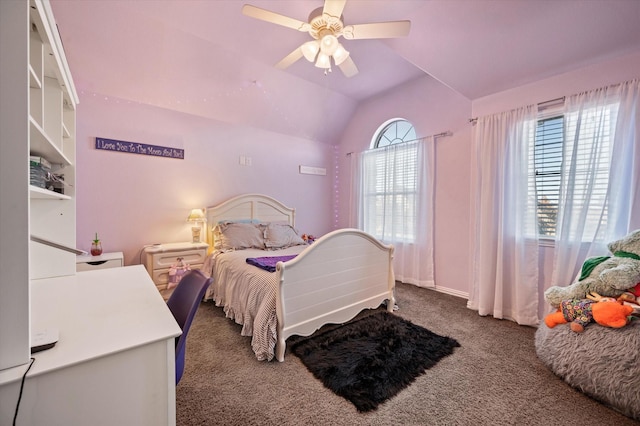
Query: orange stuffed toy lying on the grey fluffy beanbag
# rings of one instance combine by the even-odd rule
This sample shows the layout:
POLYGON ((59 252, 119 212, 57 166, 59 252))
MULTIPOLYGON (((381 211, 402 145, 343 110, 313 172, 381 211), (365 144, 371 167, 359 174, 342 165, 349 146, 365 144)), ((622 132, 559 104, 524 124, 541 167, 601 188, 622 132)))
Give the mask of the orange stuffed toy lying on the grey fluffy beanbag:
POLYGON ((628 316, 633 312, 631 306, 623 305, 611 297, 602 297, 597 293, 587 295, 588 299, 571 299, 560 303, 558 311, 547 315, 544 323, 549 328, 571 322, 571 330, 584 331, 590 322, 622 328, 629 323, 628 316))

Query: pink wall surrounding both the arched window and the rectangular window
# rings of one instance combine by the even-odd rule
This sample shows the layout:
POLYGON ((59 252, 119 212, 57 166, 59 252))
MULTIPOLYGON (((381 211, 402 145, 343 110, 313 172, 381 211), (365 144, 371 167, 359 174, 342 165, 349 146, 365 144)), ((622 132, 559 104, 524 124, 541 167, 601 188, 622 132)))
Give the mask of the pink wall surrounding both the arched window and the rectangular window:
MULTIPOLYGON (((349 226, 348 152, 368 149, 377 128, 385 121, 402 117, 411 121, 418 136, 450 130, 453 136, 436 141, 435 182, 435 281, 440 291, 467 296, 472 273, 468 244, 473 229, 471 212, 471 117, 506 111, 528 103, 543 102, 564 95, 595 89, 640 77, 640 54, 632 54, 520 86, 475 101, 429 77, 361 104, 339 146, 339 226, 349 226)), ((639 161, 640 163, 640 161, 639 161)), ((640 206, 638 208, 640 211, 640 206)), ((540 297, 550 285, 552 248, 541 248, 540 297)), ((541 303, 544 307, 544 303, 541 303)))

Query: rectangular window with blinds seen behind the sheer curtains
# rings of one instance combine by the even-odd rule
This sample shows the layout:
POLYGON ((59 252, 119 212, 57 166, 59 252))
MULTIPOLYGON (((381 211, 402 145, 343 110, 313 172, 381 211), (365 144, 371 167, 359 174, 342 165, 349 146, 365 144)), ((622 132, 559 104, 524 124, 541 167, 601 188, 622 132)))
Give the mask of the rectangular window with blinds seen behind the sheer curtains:
POLYGON ((590 241, 606 228, 616 114, 617 104, 608 104, 538 120, 529 191, 540 238, 554 239, 561 221, 582 221, 578 228, 590 241))

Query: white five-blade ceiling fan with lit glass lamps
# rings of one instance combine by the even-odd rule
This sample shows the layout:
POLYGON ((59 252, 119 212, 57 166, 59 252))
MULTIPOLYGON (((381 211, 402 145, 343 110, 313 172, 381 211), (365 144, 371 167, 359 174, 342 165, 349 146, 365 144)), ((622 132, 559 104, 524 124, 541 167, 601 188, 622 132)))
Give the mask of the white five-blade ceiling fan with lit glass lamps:
POLYGON ((242 13, 252 18, 308 32, 313 37, 313 40, 302 44, 278 62, 276 68, 285 69, 304 57, 309 62, 315 62, 316 67, 323 68, 326 74, 331 71, 331 58, 333 58, 333 62, 340 67, 343 74, 352 77, 358 73, 358 68, 338 38, 342 36, 347 40, 360 40, 404 37, 409 34, 411 21, 344 25, 342 11, 346 1, 325 0, 323 7, 311 12, 309 22, 299 21, 248 4, 242 7, 242 13))

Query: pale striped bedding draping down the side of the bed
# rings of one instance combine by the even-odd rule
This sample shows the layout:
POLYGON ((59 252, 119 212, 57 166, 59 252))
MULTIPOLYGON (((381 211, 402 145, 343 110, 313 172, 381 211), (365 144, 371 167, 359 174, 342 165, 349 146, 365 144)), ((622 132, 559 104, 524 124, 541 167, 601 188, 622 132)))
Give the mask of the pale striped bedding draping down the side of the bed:
POLYGON ((251 346, 259 361, 274 357, 278 318, 276 316, 276 273, 249 265, 249 257, 298 254, 307 246, 284 250, 237 250, 213 252, 207 257, 203 272, 213 277, 205 294, 221 306, 228 318, 242 325, 243 336, 253 336, 251 346))

